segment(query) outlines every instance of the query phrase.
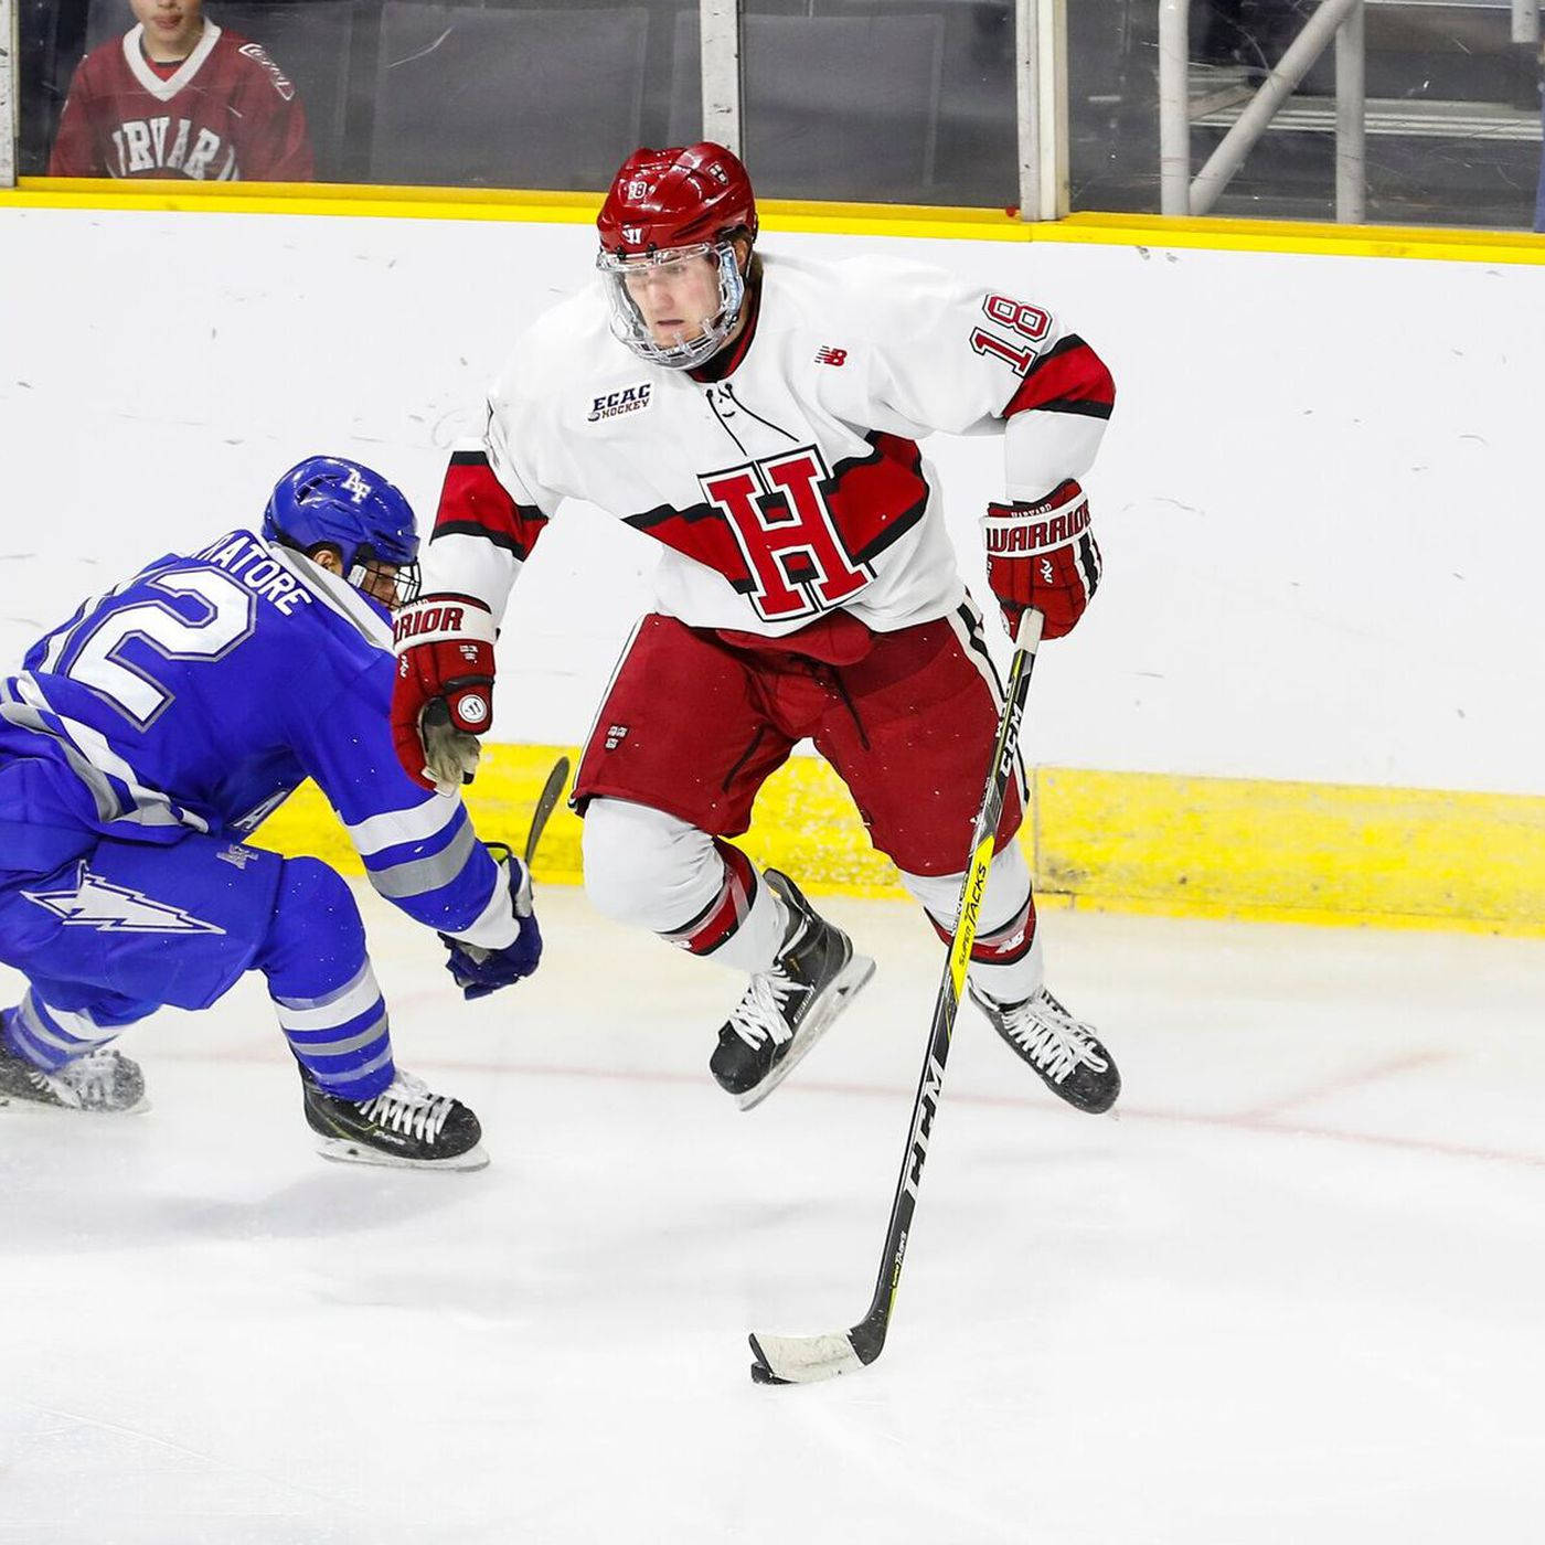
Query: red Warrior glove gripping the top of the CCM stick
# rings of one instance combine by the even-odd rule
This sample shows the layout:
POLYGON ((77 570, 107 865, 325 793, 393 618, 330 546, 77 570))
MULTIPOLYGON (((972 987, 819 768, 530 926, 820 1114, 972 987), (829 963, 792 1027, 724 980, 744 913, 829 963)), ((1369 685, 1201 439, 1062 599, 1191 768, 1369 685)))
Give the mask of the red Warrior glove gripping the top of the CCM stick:
POLYGON ((1035 504, 989 504, 987 584, 1009 637, 1034 607, 1046 618, 1043 638, 1061 638, 1083 616, 1100 582, 1100 548, 1089 533, 1089 501, 1071 477, 1035 504))

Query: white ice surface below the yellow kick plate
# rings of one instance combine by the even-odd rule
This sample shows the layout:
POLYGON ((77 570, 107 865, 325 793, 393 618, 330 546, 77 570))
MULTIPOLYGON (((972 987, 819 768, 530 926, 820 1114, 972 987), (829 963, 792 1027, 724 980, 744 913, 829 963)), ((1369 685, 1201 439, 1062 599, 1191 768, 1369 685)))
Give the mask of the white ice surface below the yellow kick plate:
POLYGON ((128 1032, 148 1114, 0 1111, 5 1545, 1539 1539, 1545 944, 1048 913, 1119 1117, 967 1006, 885 1353, 779 1389, 748 1330, 868 1302, 922 922, 825 904, 879 975, 742 1114, 728 973, 550 890, 464 1006, 363 904, 491 1166, 317 1159, 258 978, 128 1032))

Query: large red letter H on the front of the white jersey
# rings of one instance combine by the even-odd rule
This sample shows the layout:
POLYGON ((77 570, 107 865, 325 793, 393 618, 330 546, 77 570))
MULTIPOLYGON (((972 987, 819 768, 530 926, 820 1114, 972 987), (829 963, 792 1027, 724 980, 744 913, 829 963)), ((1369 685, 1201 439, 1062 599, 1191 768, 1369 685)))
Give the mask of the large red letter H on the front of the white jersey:
POLYGON ((725 513, 751 576, 757 615, 769 623, 840 606, 873 578, 842 547, 822 484, 831 474, 813 445, 703 477, 725 513))

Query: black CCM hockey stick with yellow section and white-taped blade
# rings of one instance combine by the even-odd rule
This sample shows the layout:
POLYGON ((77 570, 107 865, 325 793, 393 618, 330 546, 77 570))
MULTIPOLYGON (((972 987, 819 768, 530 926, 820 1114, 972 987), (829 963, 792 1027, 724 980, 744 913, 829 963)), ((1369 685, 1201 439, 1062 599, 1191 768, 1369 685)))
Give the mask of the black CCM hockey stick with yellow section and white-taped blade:
POLYGON ((966 969, 976 944, 976 918, 987 888, 987 868, 992 865, 1003 796, 1014 776, 1020 722, 1031 686, 1031 671, 1035 667, 1035 650, 1041 641, 1041 623, 1040 612, 1026 612, 1015 640, 1003 714, 998 718, 998 739, 993 742, 987 786, 972 833, 970 864, 961 885, 955 936, 950 939, 939 995, 933 1004, 933 1029, 929 1034, 927 1055, 922 1058, 918 1097, 912 1105, 912 1131, 901 1157, 901 1177, 896 1180, 896 1196, 890 1204, 890 1228, 885 1233, 879 1278, 874 1282, 868 1313, 851 1330, 823 1336, 769 1336, 752 1332, 751 1350, 756 1353, 756 1363, 751 1364, 751 1378, 757 1384, 813 1384, 822 1378, 836 1378, 839 1374, 854 1374, 873 1363, 885 1349, 885 1332, 890 1329, 896 1289, 901 1284, 901 1262, 907 1256, 907 1239, 912 1233, 912 1213, 918 1205, 918 1182, 922 1176, 922 1162, 929 1156, 929 1134, 933 1131, 933 1117, 938 1114, 939 1094, 944 1088, 944 1058, 950 1051, 955 1014, 966 989, 966 969))

